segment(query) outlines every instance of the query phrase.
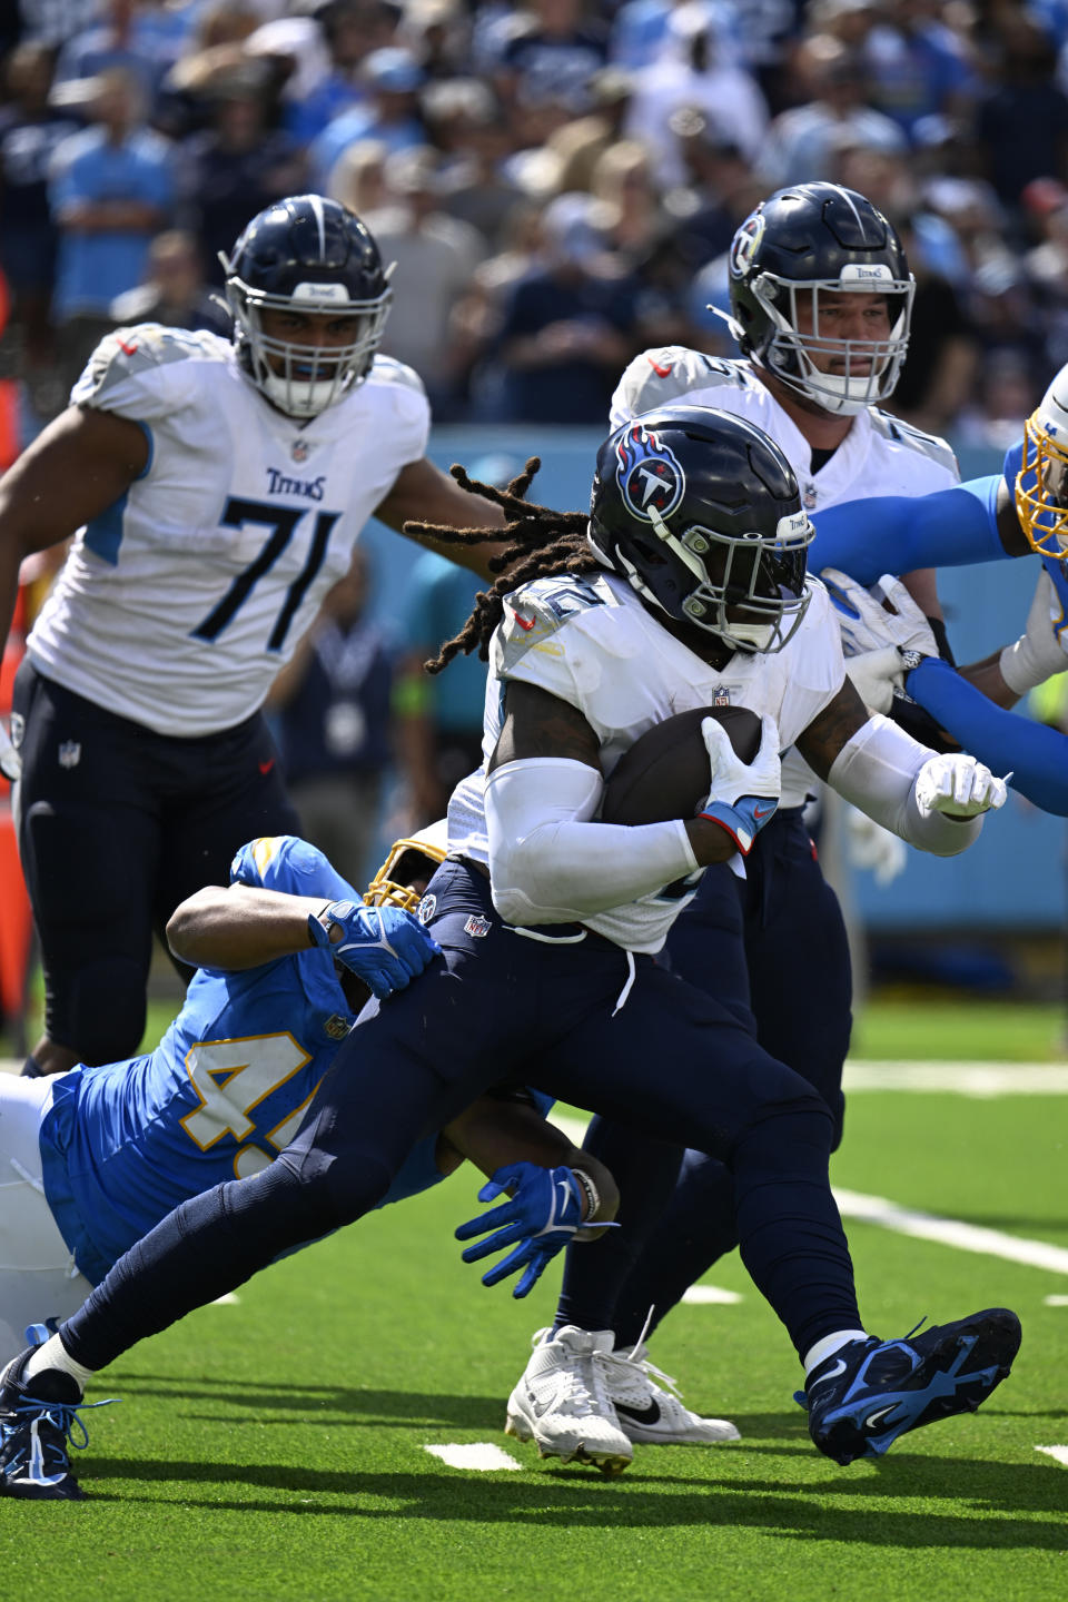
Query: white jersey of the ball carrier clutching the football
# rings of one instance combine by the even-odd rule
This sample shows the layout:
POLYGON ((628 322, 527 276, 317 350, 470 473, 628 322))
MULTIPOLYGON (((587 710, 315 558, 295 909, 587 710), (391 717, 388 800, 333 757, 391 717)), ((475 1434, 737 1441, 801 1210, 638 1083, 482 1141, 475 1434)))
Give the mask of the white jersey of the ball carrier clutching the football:
MULTIPOLYGON (((512 591, 490 642, 482 750, 496 747, 509 679, 536 684, 576 706, 600 742, 607 779, 655 723, 695 706, 748 706, 775 719, 791 745, 837 695, 845 678, 831 601, 818 580, 801 626, 772 655, 738 652, 719 673, 668 633, 613 574, 564 574, 512 591)), ((488 862, 485 764, 448 804, 450 855, 488 862)), ((583 921, 632 952, 658 952, 697 891, 700 870, 668 894, 613 907, 583 921)))

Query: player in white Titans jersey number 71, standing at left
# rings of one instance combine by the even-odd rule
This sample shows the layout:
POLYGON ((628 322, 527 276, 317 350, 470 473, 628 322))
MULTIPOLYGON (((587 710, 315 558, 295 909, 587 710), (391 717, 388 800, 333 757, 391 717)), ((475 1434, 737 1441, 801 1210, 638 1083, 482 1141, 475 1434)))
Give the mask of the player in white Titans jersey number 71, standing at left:
POLYGON ((22 557, 78 530, 14 692, 46 980, 27 1072, 131 1056, 152 928, 250 835, 299 833, 259 708, 367 519, 495 516, 375 354, 389 274, 359 218, 277 202, 224 264, 234 343, 117 330, 0 485, 5 625, 22 557))

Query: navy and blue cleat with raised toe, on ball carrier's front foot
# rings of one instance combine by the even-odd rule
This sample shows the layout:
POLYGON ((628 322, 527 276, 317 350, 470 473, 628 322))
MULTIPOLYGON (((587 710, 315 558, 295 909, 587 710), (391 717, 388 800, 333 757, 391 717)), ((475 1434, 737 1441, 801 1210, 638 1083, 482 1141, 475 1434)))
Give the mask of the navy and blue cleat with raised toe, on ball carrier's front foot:
POLYGON ((850 1341, 809 1375, 797 1400, 828 1458, 879 1458, 909 1429, 974 1413, 1009 1375, 1018 1349, 1017 1315, 988 1307, 898 1341, 850 1341))

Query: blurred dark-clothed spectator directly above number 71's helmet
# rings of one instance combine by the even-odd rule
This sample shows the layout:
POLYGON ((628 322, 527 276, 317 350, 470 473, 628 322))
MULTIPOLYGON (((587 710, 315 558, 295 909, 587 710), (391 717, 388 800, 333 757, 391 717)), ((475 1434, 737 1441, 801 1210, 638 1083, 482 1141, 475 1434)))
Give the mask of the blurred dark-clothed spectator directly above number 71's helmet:
POLYGON ((219 252, 250 215, 304 189, 304 159, 290 133, 271 125, 271 69, 245 61, 208 91, 210 125, 181 146, 179 216, 197 235, 210 284, 223 284, 219 252))

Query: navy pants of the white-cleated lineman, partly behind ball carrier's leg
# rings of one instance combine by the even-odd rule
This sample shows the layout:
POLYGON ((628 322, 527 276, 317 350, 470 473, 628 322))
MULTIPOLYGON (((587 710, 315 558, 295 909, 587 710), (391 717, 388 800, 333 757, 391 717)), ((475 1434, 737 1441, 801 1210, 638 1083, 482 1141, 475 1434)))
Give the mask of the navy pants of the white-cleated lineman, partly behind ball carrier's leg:
MULTIPOLYGON (((762 830, 746 875, 740 879, 727 865, 705 873, 671 931, 668 960, 815 1086, 834 1120, 834 1149, 842 1133, 852 974, 837 897, 820 871, 801 809, 780 812, 762 830)), ((612 1328, 616 1344, 631 1346, 650 1307, 653 1330, 738 1245, 733 1176, 716 1155, 690 1149, 682 1157, 600 1118, 586 1145, 615 1174, 624 1227, 592 1248, 568 1251, 556 1322, 612 1328)))

